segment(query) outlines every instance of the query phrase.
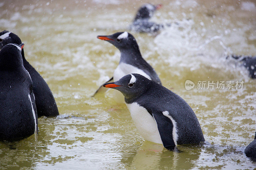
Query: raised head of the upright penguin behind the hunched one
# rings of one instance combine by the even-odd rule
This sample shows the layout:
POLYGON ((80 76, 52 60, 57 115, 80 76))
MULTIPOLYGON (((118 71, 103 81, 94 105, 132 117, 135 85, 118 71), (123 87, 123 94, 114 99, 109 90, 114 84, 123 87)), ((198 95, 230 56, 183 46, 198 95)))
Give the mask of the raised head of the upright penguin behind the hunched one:
POLYGON ((139 46, 135 38, 132 36, 132 34, 126 31, 114 33, 112 35, 99 35, 97 36, 97 38, 110 42, 120 51, 124 49, 134 49, 134 48, 139 49, 139 46))

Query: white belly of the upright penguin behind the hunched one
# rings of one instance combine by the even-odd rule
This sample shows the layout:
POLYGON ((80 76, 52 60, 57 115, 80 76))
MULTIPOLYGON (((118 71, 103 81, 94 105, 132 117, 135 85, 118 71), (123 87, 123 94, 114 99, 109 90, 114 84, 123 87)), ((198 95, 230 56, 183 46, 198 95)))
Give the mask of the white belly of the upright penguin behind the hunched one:
POLYGON ((116 70, 114 71, 114 81, 119 80, 120 78, 124 77, 127 74, 132 74, 132 73, 138 73, 149 80, 151 80, 150 76, 146 74, 143 70, 138 69, 137 67, 134 67, 131 64, 126 64, 126 63, 120 63, 116 70))

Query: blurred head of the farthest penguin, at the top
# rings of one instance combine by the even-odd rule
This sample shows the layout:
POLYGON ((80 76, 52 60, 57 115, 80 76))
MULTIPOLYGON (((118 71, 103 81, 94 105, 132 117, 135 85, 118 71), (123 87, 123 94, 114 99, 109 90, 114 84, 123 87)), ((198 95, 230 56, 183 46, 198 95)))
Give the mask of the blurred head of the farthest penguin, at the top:
POLYGON ((149 19, 153 16, 154 12, 161 7, 162 7, 161 4, 158 4, 158 5, 144 4, 137 11, 137 14, 136 14, 134 20, 149 19))

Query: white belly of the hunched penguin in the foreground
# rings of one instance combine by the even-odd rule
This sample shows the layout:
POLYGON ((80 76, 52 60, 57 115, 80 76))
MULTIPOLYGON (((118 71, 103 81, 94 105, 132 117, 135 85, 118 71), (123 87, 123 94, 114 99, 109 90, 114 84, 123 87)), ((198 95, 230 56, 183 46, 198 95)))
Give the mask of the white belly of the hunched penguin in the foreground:
POLYGON ((138 129, 140 135, 148 141, 163 144, 157 124, 153 116, 151 116, 147 109, 134 102, 132 104, 126 104, 128 107, 132 121, 138 129))

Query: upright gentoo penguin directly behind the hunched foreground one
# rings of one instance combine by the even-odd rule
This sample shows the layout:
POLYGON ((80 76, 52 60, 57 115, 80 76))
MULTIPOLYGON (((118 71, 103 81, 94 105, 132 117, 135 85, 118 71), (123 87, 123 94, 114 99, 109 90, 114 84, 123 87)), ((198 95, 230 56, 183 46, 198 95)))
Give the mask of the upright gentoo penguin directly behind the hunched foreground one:
POLYGON ((142 58, 139 46, 132 34, 118 32, 112 35, 99 35, 97 38, 110 42, 121 52, 119 65, 114 71, 114 76, 110 78, 109 81, 113 79, 114 81, 117 81, 127 74, 138 73, 161 85, 161 81, 157 76, 156 71, 142 58))

